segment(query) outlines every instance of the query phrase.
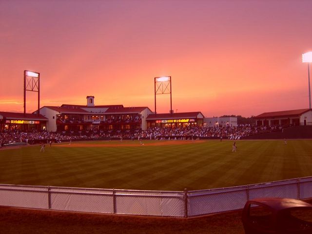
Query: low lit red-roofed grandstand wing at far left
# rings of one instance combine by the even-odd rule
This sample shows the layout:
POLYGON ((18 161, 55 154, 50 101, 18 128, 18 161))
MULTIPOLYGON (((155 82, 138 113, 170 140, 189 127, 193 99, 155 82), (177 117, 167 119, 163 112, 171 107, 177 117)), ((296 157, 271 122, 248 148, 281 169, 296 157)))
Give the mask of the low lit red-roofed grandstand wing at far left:
POLYGON ((42 115, 0 112, 0 132, 4 130, 41 131, 46 130, 48 118, 42 115))

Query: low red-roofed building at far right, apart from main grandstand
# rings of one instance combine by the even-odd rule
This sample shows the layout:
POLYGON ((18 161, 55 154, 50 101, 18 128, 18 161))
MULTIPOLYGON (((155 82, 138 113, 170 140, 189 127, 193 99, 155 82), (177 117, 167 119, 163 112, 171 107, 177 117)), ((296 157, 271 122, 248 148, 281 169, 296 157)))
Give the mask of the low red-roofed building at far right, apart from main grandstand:
POLYGON ((254 118, 257 126, 312 125, 312 109, 266 112, 254 118))

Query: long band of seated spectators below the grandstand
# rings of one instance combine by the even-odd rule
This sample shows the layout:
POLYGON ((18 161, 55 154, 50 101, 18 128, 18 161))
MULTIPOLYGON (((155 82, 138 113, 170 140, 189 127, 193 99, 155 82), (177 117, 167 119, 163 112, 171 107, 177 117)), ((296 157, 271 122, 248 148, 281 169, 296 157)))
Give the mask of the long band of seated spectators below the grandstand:
MULTIPOLYGON (((0 143, 25 142, 35 144, 40 142, 62 142, 70 140, 100 140, 100 139, 196 139, 196 138, 220 138, 223 139, 241 139, 250 135, 255 135, 267 131, 275 131, 271 127, 254 127, 250 125, 241 125, 237 127, 187 127, 187 128, 157 128, 152 127, 147 130, 126 130, 126 131, 64 131, 64 132, 19 132, 3 131, 0 133, 0 143)), ((278 130, 278 129, 277 129, 278 130)))

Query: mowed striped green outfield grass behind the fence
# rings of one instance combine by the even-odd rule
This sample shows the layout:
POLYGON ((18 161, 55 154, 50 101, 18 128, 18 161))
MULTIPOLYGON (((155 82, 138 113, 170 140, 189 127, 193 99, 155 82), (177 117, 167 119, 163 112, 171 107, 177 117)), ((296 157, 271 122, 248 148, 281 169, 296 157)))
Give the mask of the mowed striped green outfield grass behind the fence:
POLYGON ((137 140, 85 142, 111 144, 107 147, 46 145, 44 153, 39 146, 0 150, 0 183, 182 191, 312 176, 312 140, 289 140, 287 145, 283 140, 240 140, 236 153, 230 140, 148 142, 138 147, 127 146, 137 140))

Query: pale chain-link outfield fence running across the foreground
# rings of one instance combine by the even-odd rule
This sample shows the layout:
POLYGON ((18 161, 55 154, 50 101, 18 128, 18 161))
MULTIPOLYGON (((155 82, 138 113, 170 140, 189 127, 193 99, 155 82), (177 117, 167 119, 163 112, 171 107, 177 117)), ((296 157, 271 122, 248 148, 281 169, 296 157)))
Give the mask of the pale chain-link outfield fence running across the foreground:
POLYGON ((119 215, 192 217, 243 209, 259 197, 312 198, 312 176, 176 192, 0 184, 0 206, 119 215))

